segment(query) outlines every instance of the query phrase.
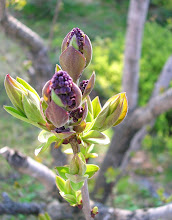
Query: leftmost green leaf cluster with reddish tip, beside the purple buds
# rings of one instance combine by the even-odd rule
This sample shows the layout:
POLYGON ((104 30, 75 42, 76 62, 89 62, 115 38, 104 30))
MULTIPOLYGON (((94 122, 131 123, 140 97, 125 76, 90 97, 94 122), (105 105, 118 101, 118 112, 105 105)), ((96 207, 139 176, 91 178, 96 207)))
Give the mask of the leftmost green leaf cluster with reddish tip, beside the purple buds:
POLYGON ((45 120, 40 113, 40 97, 26 81, 17 77, 13 79, 7 75, 4 81, 5 89, 14 107, 4 106, 12 116, 45 129, 45 120))

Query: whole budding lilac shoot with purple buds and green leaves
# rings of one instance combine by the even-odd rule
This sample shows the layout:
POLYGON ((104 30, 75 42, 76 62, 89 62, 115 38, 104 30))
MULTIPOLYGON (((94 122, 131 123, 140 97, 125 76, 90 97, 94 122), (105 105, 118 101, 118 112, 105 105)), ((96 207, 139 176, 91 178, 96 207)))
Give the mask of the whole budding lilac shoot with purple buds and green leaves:
MULTIPOLYGON (((89 97, 95 73, 90 79, 80 82, 83 70, 92 58, 91 42, 79 28, 70 31, 63 40, 60 66, 56 65, 52 78, 45 83, 42 97, 23 79, 5 78, 5 89, 14 107, 5 106, 12 116, 33 124, 42 131, 41 142, 35 155, 44 152, 55 142, 55 146, 66 145, 65 152, 73 154, 69 165, 56 167, 56 185, 61 196, 71 206, 82 207, 89 201, 83 190, 86 180, 99 170, 88 164, 89 158, 97 157, 95 144, 109 144, 102 133, 118 125, 127 114, 125 93, 111 97, 101 107, 99 97, 89 97)), ((86 219, 98 213, 97 207, 84 212, 86 219)))

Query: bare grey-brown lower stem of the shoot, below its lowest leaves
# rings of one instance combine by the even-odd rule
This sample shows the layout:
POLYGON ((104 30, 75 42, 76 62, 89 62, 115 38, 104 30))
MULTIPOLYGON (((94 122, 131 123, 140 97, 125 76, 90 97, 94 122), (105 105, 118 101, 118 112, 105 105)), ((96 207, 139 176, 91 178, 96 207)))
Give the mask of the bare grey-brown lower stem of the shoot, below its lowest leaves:
POLYGON ((88 192, 88 184, 87 180, 85 180, 84 186, 81 189, 82 193, 82 203, 83 203, 83 212, 86 220, 91 220, 91 206, 90 206, 90 198, 88 192))

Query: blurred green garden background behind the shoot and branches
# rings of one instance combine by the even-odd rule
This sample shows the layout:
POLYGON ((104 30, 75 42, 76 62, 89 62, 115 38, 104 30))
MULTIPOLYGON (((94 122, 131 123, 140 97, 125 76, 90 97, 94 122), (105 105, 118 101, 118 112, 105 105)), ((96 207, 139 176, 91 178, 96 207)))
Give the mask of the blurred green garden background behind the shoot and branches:
MULTIPOLYGON (((9 0, 9 3, 9 11, 37 32, 48 45, 56 0, 9 0)), ((90 37, 93 44, 93 59, 85 70, 84 77, 88 78, 93 70, 96 72, 95 89, 102 102, 121 91, 128 4, 129 1, 126 0, 63 0, 54 26, 50 50, 50 59, 54 66, 59 62, 61 42, 73 27, 81 28, 90 37)), ((140 60, 140 106, 149 100, 154 84, 171 53, 172 0, 152 0, 145 24, 140 60)), ((27 58, 27 51, 0 32, 0 148, 9 146, 34 157, 34 149, 39 144, 37 141, 39 129, 12 118, 3 110, 3 105, 10 104, 3 86, 4 76, 9 73, 13 77, 20 76, 29 80, 28 64, 30 61, 27 58)), ((134 155, 136 158, 145 156, 144 161, 149 166, 146 166, 145 162, 140 166, 130 164, 128 175, 122 178, 114 189, 115 196, 110 198, 110 205, 135 210, 166 202, 162 198, 162 191, 167 198, 172 194, 171 125, 172 111, 162 114, 157 119, 153 129, 143 140, 141 156, 134 155), (139 181, 142 179, 145 184, 140 185, 139 181)), ((111 130, 107 133, 112 137, 111 130)), ((106 147, 96 148, 100 155, 97 163, 101 162, 106 149, 106 147)), ((52 167, 49 152, 35 159, 52 167)), ((45 199, 45 191, 40 183, 28 176, 19 175, 2 158, 0 166, 3 167, 0 171, 0 193, 7 191, 18 201, 45 199)), ((109 170, 108 176, 113 178, 115 172, 109 170)), ((93 185, 94 180, 91 180, 90 190, 93 185)), ((5 216, 4 219, 26 219, 26 217, 5 216)))

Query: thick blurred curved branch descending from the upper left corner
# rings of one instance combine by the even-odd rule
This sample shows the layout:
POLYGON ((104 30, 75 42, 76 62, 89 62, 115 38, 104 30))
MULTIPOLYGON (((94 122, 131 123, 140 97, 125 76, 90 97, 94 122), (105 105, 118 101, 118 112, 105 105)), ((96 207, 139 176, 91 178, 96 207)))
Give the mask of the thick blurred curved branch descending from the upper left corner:
POLYGON ((26 25, 8 14, 5 8, 5 0, 0 0, 0 27, 7 36, 28 48, 34 67, 34 72, 30 75, 31 83, 41 91, 43 84, 52 76, 52 65, 49 61, 48 50, 43 39, 26 25))

